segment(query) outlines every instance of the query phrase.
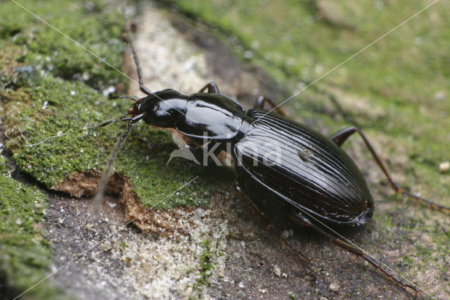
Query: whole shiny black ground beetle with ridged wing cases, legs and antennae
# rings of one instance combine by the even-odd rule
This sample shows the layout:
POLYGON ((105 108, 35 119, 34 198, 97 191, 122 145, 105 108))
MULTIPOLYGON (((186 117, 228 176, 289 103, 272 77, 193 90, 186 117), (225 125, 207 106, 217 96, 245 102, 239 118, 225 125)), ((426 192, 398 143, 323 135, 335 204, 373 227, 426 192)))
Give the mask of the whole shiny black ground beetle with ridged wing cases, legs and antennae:
MULTIPOLYGON (((394 192, 411 196, 435 208, 447 211, 450 208, 411 194, 394 182, 359 128, 348 127, 329 138, 325 137, 307 126, 264 110, 263 106, 266 103, 276 108, 274 102, 264 96, 260 96, 255 107, 246 112, 236 101, 220 94, 214 82, 210 82, 198 93, 191 95, 181 94, 174 89, 151 92, 143 86, 139 58, 131 41, 126 18, 125 26, 136 63, 139 86, 141 92, 147 96, 141 99, 119 96, 119 98, 134 100, 134 104, 119 120, 110 120, 101 125, 120 121, 128 122, 127 128, 110 156, 98 187, 95 199, 96 210, 104 194, 108 173, 120 145, 133 124, 143 120, 148 125, 171 128, 179 132, 186 138, 186 146, 194 156, 201 156, 204 147, 210 144, 221 145, 223 142, 231 144, 228 150, 236 162, 238 181, 235 186, 238 193, 248 201, 252 211, 266 223, 266 226, 276 232, 278 237, 298 255, 307 260, 310 259, 306 254, 294 249, 283 238, 264 213, 259 211, 248 196, 245 196, 241 186, 245 187, 245 183, 252 181, 252 184, 256 184, 289 204, 292 208, 290 213, 292 220, 312 227, 336 244, 361 256, 402 287, 410 287, 416 293, 421 291, 416 285, 404 282, 390 270, 383 268, 363 249, 324 230, 322 225, 325 224, 328 228, 333 225, 364 225, 371 220, 374 211, 373 199, 361 171, 340 146, 357 132, 387 177, 394 192), (264 146, 267 142, 278 145, 277 159, 270 155, 273 149, 264 146), (254 145, 259 145, 257 151, 254 145)), ((282 111, 280 113, 283 114, 282 111)), ((223 146, 217 147, 217 152, 222 150, 227 149, 223 146)))

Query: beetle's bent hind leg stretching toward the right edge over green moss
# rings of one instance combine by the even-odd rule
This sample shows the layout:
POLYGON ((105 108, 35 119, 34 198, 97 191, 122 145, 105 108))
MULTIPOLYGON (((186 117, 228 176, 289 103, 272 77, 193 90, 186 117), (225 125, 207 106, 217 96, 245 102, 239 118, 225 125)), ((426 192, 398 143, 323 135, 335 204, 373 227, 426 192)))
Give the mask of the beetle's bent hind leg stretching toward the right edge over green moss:
POLYGON ((355 132, 358 132, 359 135, 361 135, 364 144, 366 144, 367 148, 369 151, 371 151, 371 154, 373 156, 373 158, 375 159, 376 163, 378 164, 378 166, 380 167, 380 169, 383 171, 383 173, 385 174, 385 176, 387 177, 387 181, 389 182, 390 186, 392 187, 392 189, 394 189, 394 192, 401 193, 404 194, 406 196, 410 196, 413 199, 416 199, 418 201, 422 201, 430 206, 433 206, 437 209, 442 209, 444 211, 450 211, 450 207, 447 206, 443 206, 441 204, 437 204, 433 201, 430 201, 428 199, 425 199, 421 196, 419 196, 418 194, 413 194, 409 191, 406 191, 404 188, 402 188, 399 184, 397 184, 397 182, 394 182, 394 180, 392 180, 392 177, 390 176, 389 172, 387 172, 387 169, 385 168, 385 165, 383 164, 383 162, 381 161, 380 157, 378 156, 378 154, 376 154, 375 150, 373 149, 372 145, 370 142, 368 142, 368 139, 366 138, 366 136, 363 134, 363 132, 354 126, 350 126, 348 128, 345 128, 345 130, 341 130, 340 132, 336 132, 334 135, 332 135, 330 137, 330 139, 335 142, 336 144, 338 144, 338 146, 341 146, 342 144, 344 144, 344 142, 348 139, 348 137, 350 135, 353 135, 355 132))

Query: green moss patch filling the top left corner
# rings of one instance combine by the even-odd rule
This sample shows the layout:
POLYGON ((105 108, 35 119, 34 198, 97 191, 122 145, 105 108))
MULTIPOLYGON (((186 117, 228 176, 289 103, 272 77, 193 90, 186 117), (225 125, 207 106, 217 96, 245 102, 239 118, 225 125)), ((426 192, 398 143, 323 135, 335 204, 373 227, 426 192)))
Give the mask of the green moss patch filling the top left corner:
MULTIPOLYGON (((101 1, 43 1, 39 4, 35 1, 20 1, 20 4, 100 58, 120 68, 122 58, 117 53, 120 54, 123 49, 120 39, 123 26, 115 7, 108 8, 101 1)), ((81 46, 75 45, 20 6, 6 1, 0 7, 1 37, 26 49, 27 54, 20 57, 25 65, 33 65, 39 72, 48 71, 68 80, 82 80, 96 89, 123 81, 117 71, 105 68, 98 58, 93 58, 81 46)))

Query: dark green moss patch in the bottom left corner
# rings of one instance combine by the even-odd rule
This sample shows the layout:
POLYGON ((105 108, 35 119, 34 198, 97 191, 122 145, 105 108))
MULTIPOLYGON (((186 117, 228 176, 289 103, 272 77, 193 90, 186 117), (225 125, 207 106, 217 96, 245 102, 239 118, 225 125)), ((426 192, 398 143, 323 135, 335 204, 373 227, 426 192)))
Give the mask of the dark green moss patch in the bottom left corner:
MULTIPOLYGON (((5 165, 2 158, 0 165, 5 165)), ((51 263, 50 249, 43 238, 41 223, 47 204, 45 194, 34 187, 0 174, 0 273, 8 296, 21 292, 47 275, 51 263)), ((5 290, 2 290, 6 292, 5 290)), ((58 289, 42 282, 30 292, 27 299, 57 299, 58 289)))

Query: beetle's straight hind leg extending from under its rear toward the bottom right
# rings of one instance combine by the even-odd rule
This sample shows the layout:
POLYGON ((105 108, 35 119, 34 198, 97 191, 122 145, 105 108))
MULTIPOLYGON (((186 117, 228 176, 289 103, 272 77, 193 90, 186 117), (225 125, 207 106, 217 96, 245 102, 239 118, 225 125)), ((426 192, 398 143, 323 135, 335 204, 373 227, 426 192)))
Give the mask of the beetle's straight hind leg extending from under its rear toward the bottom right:
POLYGON ((387 277, 392 279, 394 282, 397 282, 397 284, 399 284, 403 287, 409 287, 409 288, 413 289, 414 292, 416 292, 416 294, 418 292, 422 291, 422 289, 420 289, 420 287, 417 287, 416 285, 410 285, 410 284, 404 282, 399 277, 392 274, 389 270, 386 270, 385 268, 383 268, 383 265, 380 265, 380 263, 378 263, 378 261, 376 261, 376 259, 373 258, 373 256, 369 255, 366 251, 364 251, 364 249, 357 248, 356 246, 353 246, 352 244, 349 244, 348 242, 345 242, 344 240, 342 240, 338 237, 330 235, 328 232, 323 230, 321 227, 315 225, 314 223, 311 223, 309 218, 302 215, 302 213, 293 213, 292 215, 290 215, 290 218, 292 220, 294 220, 296 223, 300 223, 302 225, 311 227, 312 229, 316 230, 316 232, 319 232, 321 235, 324 235, 325 237, 328 237, 328 239, 331 239, 331 241, 333 241, 335 244, 338 244, 339 246, 341 246, 344 249, 347 249, 348 251, 352 252, 353 254, 356 254, 357 256, 364 258, 366 261, 368 261, 368 263, 371 263, 371 265, 373 265, 375 268, 377 268, 378 270, 383 272, 387 277))

